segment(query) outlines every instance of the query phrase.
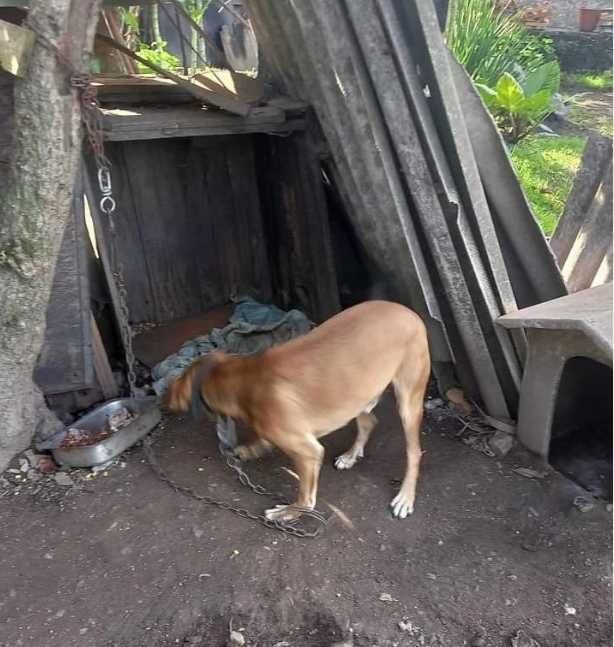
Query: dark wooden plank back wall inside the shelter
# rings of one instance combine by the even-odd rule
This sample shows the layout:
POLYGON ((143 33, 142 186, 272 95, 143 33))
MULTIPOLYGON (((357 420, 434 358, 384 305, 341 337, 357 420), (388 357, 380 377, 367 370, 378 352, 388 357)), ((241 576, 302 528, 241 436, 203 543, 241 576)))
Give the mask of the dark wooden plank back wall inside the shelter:
POLYGON ((190 317, 242 293, 269 298, 250 137, 204 148, 187 139, 113 143, 107 151, 115 241, 95 215, 103 246, 116 245, 123 259, 133 323, 190 317))

